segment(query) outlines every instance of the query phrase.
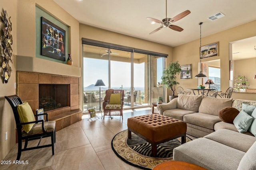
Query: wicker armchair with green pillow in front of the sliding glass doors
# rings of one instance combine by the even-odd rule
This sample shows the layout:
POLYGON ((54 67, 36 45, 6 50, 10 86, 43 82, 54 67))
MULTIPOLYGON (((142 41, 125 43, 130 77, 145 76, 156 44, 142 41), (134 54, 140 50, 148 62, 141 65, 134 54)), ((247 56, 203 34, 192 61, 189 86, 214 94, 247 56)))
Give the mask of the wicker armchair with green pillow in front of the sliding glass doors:
MULTIPOLYGON (((108 90, 106 90, 107 94, 108 90)), ((123 119, 123 108, 124 108, 124 90, 113 90, 112 94, 110 96, 110 99, 107 101, 103 101, 102 107, 103 107, 103 119, 106 115, 120 115, 123 119), (112 95, 114 94, 114 95, 112 95), (121 94, 121 95, 120 95, 121 94), (114 96, 118 96, 120 100, 112 100, 114 96)))

